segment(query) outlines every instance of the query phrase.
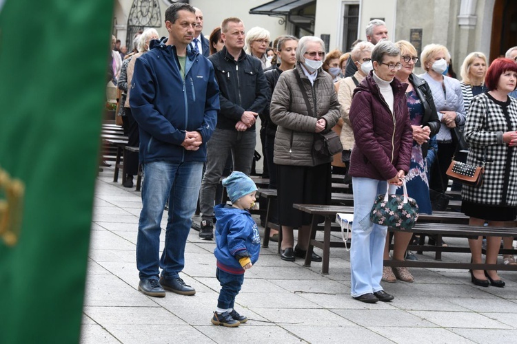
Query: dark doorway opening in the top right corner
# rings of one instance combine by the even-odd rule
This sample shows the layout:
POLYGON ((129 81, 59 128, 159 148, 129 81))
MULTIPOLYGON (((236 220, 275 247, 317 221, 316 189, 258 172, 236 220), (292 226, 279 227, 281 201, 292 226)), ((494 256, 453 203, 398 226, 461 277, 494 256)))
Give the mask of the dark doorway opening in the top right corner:
POLYGON ((492 17, 490 61, 517 46, 517 1, 496 0, 492 17))

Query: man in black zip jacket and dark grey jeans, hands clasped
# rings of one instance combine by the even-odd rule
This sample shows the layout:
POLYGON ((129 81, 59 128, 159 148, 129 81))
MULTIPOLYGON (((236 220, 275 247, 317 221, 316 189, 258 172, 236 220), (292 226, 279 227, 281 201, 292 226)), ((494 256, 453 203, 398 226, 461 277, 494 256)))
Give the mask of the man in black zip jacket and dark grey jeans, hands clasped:
POLYGON ((247 55, 244 24, 241 19, 227 18, 221 23, 223 50, 209 57, 219 83, 221 111, 210 142, 207 142, 205 176, 201 183, 201 230, 199 237, 214 237, 215 191, 228 154, 232 153, 234 171, 247 175, 255 151, 255 121, 267 103, 267 83, 258 58, 247 55))

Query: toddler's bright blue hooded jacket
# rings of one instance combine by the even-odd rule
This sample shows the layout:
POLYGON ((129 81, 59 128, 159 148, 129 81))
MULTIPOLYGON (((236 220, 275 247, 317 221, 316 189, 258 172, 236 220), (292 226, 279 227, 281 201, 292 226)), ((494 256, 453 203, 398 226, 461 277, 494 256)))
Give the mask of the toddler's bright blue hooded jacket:
POLYGON ((239 251, 247 250, 252 264, 259 259, 261 237, 252 215, 248 211, 227 204, 214 207, 216 222, 217 267, 233 275, 241 275, 244 269, 236 259, 239 251))

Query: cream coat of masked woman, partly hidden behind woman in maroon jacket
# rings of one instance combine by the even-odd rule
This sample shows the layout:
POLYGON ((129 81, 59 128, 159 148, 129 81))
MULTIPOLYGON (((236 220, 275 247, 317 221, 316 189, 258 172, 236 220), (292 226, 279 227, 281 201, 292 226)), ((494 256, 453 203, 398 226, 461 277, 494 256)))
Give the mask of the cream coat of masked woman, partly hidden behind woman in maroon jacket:
MULTIPOLYGON (((359 83, 361 83, 363 78, 365 78, 359 74, 359 72, 356 72, 354 76, 359 83)), ((354 94, 356 84, 354 83, 354 80, 352 80, 352 77, 343 78, 339 83, 338 100, 339 104, 341 104, 341 118, 343 118, 343 127, 341 128, 341 135, 339 138, 341 139, 341 144, 343 144, 343 150, 347 151, 354 147, 354 131, 352 131, 352 125, 350 124, 348 114, 350 111, 350 105, 352 104, 352 95, 354 94)))

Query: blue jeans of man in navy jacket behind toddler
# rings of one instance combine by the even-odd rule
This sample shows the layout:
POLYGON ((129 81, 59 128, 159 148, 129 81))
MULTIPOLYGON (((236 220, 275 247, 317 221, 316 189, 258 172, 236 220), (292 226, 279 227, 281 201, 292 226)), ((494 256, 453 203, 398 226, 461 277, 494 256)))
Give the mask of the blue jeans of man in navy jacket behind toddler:
POLYGON ((144 166, 143 208, 136 240, 136 268, 141 280, 179 277, 185 266, 185 244, 201 186, 203 162, 149 162, 144 166), (161 259, 161 217, 169 198, 169 217, 161 259))

